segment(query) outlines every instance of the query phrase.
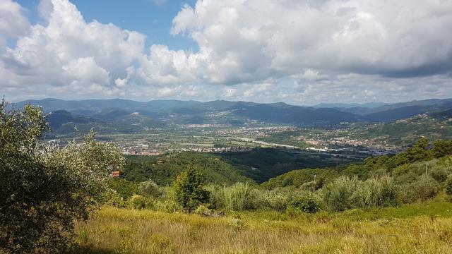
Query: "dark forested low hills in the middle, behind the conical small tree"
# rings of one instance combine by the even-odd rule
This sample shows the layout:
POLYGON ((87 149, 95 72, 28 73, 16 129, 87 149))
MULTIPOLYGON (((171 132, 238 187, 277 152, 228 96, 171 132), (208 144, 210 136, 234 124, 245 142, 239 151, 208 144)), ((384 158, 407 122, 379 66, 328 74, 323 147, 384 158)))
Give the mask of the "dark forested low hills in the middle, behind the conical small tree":
POLYGON ((327 155, 305 155, 302 152, 275 148, 256 148, 248 152, 212 154, 181 152, 158 157, 130 155, 126 157, 124 179, 152 179, 160 186, 174 181, 189 163, 201 167, 207 183, 231 185, 236 182, 262 183, 293 169, 326 167, 337 164, 327 155))

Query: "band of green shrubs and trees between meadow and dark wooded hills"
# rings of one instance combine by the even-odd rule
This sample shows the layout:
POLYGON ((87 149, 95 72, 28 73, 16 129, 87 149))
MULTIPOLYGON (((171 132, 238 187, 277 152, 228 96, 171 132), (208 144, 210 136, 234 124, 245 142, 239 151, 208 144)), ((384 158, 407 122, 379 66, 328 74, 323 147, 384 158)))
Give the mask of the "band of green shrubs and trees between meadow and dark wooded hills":
POLYGON ((437 140, 429 145, 422 138, 398 155, 370 157, 359 164, 334 168, 290 171, 261 186, 210 182, 206 186, 210 198, 194 202, 189 209, 184 205, 186 201, 174 198, 172 189, 157 186, 153 181, 140 183, 137 194, 153 200, 148 202, 153 205, 146 206, 151 209, 168 211, 171 207, 172 211, 196 210, 201 214, 221 210, 277 210, 297 214, 398 206, 430 200, 443 191, 451 195, 451 155, 451 141, 437 140))

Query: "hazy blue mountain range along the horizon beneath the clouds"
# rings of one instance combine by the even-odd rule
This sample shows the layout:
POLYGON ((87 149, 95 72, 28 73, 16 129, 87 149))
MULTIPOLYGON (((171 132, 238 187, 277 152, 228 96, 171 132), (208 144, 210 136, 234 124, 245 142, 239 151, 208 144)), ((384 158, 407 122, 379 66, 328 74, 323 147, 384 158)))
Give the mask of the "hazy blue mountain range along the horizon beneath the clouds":
POLYGON ((319 104, 301 107, 283 102, 263 104, 255 102, 212 102, 154 100, 136 102, 127 99, 90 99, 69 101, 62 99, 26 100, 8 104, 21 108, 25 104, 42 107, 48 114, 52 128, 95 126, 119 132, 141 131, 171 123, 218 123, 241 126, 247 123, 293 124, 298 126, 328 126, 341 122, 388 122, 417 114, 452 109, 452 99, 383 104, 319 104), (69 124, 71 123, 71 124, 69 124), (120 128, 119 128, 120 127, 120 128))

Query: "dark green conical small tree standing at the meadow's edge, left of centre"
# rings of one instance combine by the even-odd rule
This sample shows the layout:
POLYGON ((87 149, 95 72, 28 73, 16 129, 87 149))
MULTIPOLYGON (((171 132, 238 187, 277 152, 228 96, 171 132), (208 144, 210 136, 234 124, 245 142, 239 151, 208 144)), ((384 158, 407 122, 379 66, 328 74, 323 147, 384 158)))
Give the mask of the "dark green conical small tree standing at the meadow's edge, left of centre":
POLYGON ((173 183, 175 198, 185 212, 209 201, 209 192, 203 188, 201 170, 190 164, 173 183))

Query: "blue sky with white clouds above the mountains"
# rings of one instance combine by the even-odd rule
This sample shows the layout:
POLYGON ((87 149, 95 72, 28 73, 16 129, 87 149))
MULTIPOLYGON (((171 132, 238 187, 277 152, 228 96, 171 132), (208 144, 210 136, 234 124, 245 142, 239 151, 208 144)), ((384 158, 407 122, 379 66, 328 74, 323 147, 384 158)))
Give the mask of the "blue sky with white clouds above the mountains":
POLYGON ((451 0, 0 0, 0 96, 452 97, 451 0))

